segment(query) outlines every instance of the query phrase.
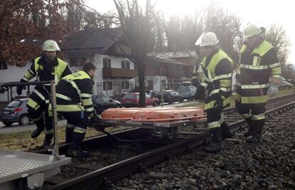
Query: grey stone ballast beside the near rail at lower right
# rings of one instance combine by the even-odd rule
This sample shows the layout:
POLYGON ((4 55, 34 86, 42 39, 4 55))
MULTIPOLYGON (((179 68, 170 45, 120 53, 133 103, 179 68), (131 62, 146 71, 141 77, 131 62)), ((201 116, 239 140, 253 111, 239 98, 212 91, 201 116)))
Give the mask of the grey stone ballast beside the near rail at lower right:
POLYGON ((237 135, 236 141, 224 142, 222 152, 192 149, 122 179, 112 189, 295 189, 294 112, 269 119, 257 146, 237 135))

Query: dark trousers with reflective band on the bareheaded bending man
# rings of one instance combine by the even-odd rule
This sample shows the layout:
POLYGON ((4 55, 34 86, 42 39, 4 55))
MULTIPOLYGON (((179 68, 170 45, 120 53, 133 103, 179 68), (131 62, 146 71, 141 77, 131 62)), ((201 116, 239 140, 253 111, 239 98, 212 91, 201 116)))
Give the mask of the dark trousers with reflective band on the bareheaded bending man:
POLYGON ((86 112, 58 112, 66 118, 66 143, 71 143, 70 147, 80 149, 89 125, 86 112))

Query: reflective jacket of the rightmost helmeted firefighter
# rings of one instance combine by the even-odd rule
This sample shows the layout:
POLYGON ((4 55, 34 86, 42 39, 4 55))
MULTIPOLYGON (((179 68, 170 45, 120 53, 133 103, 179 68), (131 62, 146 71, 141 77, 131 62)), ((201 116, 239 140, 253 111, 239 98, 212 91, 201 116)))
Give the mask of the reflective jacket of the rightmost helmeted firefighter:
POLYGON ((235 99, 242 104, 265 103, 271 77, 281 78, 281 65, 274 47, 267 41, 253 49, 244 44, 239 51, 235 99))

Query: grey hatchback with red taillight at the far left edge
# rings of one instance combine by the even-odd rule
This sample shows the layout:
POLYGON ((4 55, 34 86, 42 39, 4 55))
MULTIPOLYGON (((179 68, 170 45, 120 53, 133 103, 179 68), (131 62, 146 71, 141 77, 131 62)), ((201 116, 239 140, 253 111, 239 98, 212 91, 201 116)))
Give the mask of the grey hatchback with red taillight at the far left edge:
POLYGON ((19 122, 19 125, 29 125, 31 119, 26 107, 28 100, 29 98, 24 98, 10 102, 1 109, 0 121, 6 126, 11 126, 14 122, 19 122))

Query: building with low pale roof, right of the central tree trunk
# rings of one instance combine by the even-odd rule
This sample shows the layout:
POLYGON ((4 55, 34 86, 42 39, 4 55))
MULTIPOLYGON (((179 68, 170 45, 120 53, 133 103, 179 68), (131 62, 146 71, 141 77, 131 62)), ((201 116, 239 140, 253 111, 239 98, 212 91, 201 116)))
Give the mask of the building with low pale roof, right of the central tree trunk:
POLYGON ((170 89, 172 83, 190 81, 196 60, 195 51, 178 51, 165 53, 148 53, 145 69, 146 86, 148 89, 160 90, 160 83, 170 89))

